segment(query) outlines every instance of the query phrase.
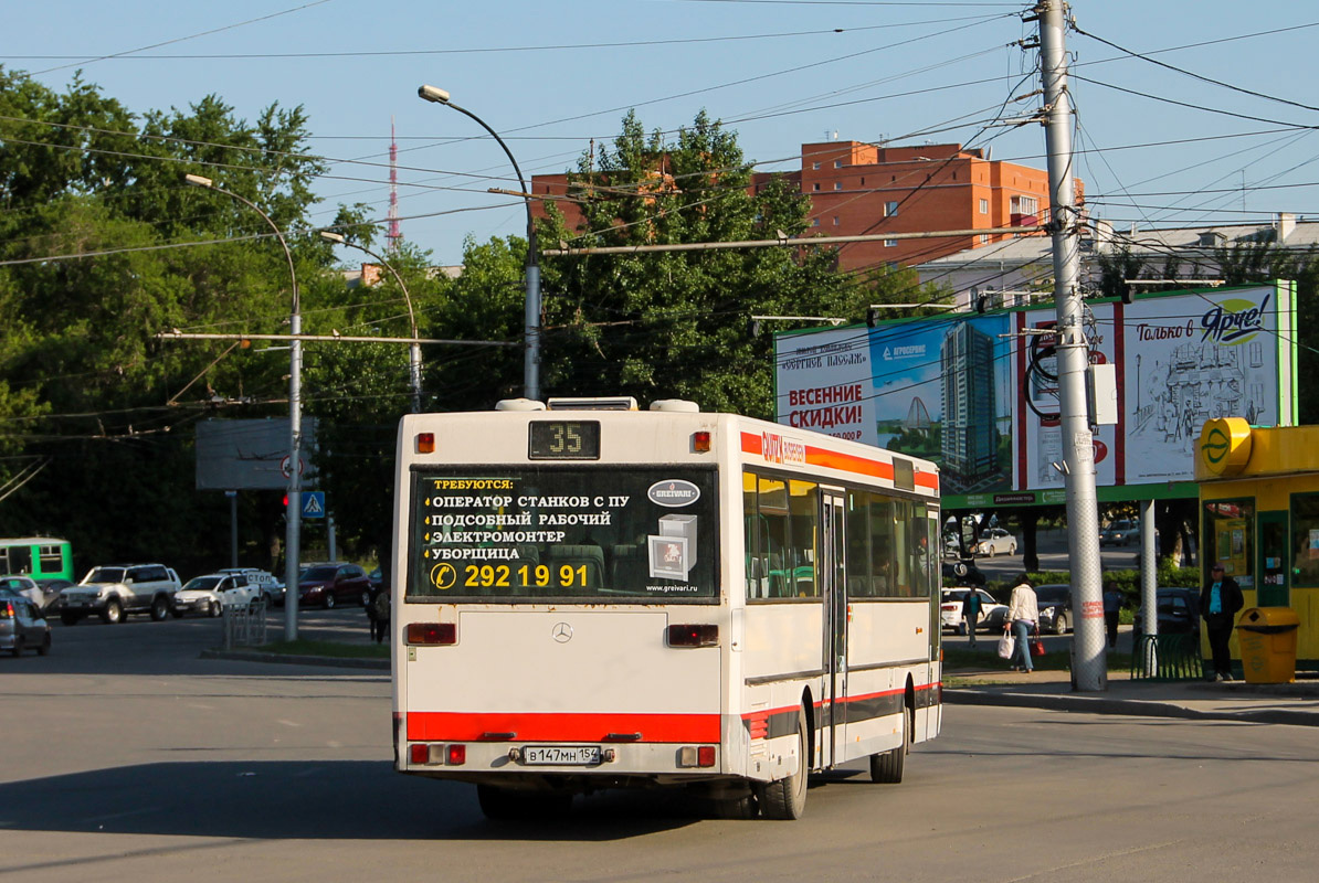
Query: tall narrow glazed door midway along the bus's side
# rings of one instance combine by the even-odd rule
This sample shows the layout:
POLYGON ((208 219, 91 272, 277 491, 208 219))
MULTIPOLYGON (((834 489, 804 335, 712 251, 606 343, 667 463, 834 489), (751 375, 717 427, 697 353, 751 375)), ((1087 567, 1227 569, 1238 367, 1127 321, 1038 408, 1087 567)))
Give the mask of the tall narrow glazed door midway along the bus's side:
POLYGON ((847 497, 840 490, 820 489, 820 560, 816 565, 824 600, 824 702, 820 766, 843 760, 840 739, 847 730, 847 576, 844 523, 847 497))

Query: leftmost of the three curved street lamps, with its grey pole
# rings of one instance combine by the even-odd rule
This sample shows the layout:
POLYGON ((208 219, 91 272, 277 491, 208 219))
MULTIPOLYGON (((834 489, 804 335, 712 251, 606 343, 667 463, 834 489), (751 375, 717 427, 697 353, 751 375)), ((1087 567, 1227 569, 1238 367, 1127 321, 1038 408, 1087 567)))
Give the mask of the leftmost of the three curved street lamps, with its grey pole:
POLYGON ((215 186, 215 182, 202 175, 183 175, 183 183, 193 187, 206 187, 218 194, 231 196, 262 219, 274 231, 276 239, 284 246, 284 257, 289 261, 289 278, 293 282, 293 304, 289 311, 289 502, 285 506, 285 522, 288 534, 284 542, 284 638, 285 641, 298 639, 298 557, 302 539, 302 314, 298 303, 298 274, 293 269, 293 252, 284 239, 284 233, 270 216, 251 199, 215 186))

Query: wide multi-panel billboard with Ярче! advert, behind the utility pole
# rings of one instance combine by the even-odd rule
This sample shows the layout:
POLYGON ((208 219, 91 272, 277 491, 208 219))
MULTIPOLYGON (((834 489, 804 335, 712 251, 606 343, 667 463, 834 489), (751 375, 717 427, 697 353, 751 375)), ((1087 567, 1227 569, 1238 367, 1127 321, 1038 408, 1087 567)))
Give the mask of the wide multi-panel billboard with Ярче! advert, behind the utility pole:
MULTIPOLYGON (((1063 502, 1055 314, 1016 308, 776 336, 776 419, 934 460, 944 505, 1063 502)), ((1290 426, 1295 287, 1087 303, 1089 361, 1117 374, 1095 427, 1100 499, 1194 496, 1204 420, 1290 426), (1184 482, 1184 484, 1183 484, 1184 482)))

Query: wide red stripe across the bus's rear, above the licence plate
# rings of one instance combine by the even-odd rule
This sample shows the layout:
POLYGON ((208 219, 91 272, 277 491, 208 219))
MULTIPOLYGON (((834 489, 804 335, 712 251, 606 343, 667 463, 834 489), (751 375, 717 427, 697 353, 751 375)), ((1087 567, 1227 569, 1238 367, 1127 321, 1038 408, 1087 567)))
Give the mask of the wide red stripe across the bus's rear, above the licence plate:
MULTIPOLYGON (((559 712, 412 712, 408 738, 480 742, 487 733, 514 733, 518 742, 604 742, 611 733, 640 733, 637 742, 719 742, 718 714, 565 714, 559 712)), ((510 739, 506 739, 510 741, 510 739)))

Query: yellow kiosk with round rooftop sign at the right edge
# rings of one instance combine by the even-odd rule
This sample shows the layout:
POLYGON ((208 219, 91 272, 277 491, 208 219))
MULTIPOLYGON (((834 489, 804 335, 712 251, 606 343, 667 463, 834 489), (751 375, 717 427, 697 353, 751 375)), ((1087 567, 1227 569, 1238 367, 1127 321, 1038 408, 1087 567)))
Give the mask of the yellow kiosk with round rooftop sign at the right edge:
MULTIPOLYGON (((1319 668, 1319 426, 1253 428, 1241 418, 1208 420, 1195 457, 1200 485, 1200 561, 1241 586, 1256 619, 1295 621, 1297 668, 1319 668)), ((1232 637, 1232 658, 1241 639, 1232 637)), ((1268 631, 1268 626, 1256 631, 1268 631)), ((1208 656, 1208 641, 1200 648, 1208 656)), ((1249 672, 1246 672, 1249 676, 1249 672)))

